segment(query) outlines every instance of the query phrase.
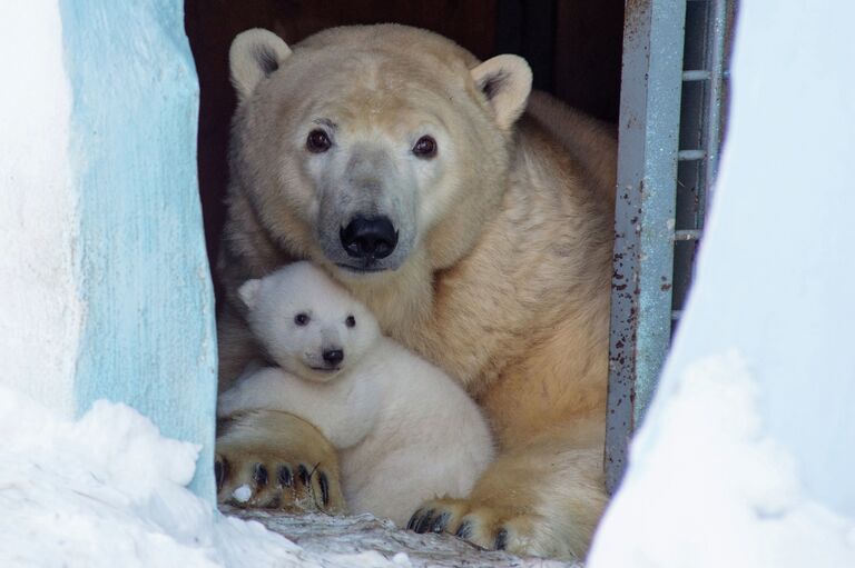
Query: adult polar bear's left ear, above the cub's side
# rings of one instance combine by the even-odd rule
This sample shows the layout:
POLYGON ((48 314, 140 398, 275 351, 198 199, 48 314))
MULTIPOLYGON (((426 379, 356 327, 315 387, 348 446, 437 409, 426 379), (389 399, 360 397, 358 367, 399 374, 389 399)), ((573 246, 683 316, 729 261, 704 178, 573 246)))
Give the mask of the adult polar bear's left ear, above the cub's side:
POLYGON ((228 50, 237 101, 247 99, 258 81, 278 69, 289 54, 291 48, 272 31, 255 28, 238 33, 228 50))

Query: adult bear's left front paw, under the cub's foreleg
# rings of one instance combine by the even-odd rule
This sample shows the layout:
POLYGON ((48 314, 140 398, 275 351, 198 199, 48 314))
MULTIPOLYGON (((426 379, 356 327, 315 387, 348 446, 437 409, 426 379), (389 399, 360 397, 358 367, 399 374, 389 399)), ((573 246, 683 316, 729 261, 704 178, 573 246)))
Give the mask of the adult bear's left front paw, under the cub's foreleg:
POLYGON ((345 512, 337 455, 307 422, 253 411, 233 417, 220 432, 214 464, 218 502, 345 512))

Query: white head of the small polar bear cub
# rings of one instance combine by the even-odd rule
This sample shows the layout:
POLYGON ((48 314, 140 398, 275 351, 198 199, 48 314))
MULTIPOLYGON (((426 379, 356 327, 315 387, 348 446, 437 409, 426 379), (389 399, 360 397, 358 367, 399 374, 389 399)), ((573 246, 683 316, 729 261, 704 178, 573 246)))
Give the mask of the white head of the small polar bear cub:
POLYGON ((371 312, 308 262, 248 280, 238 295, 268 356, 308 380, 331 380, 380 337, 371 312))

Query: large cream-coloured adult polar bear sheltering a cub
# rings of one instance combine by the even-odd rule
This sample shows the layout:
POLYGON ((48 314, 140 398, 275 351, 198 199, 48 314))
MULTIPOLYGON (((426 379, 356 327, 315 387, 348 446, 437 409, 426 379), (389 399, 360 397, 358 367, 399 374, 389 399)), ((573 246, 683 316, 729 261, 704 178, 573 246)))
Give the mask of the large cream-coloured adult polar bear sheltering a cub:
MULTIPOLYGON (((460 380, 497 435, 469 498, 428 504, 412 525, 583 556, 606 504, 611 137, 543 94, 523 114, 522 59, 480 62, 424 30, 336 28, 293 50, 249 30, 229 60, 220 389, 257 355, 237 288, 312 260, 460 380)), ((235 417, 217 451, 222 499, 249 484, 252 505, 287 501, 259 464, 320 464, 337 485, 330 444, 289 415, 235 417)))

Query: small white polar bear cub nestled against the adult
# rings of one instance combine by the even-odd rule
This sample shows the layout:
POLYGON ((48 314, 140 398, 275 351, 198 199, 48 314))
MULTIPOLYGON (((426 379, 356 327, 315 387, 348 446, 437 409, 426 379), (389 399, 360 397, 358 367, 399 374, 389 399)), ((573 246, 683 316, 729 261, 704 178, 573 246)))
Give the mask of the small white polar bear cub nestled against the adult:
POLYGON ((439 368, 380 332, 368 309, 308 262, 238 291, 278 367, 250 367, 217 413, 283 410, 341 452, 351 512, 403 526, 422 502, 465 497, 493 457, 487 420, 439 368))

